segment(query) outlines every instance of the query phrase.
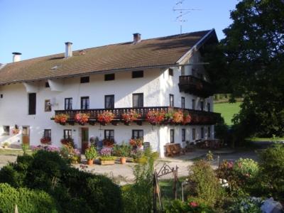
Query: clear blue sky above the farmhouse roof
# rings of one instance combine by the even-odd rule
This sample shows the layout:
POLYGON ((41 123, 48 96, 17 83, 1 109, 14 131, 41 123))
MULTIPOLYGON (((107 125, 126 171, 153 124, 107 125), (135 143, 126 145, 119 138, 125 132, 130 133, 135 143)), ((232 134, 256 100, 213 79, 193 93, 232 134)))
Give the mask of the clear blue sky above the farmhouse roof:
MULTIPOLYGON (((92 48, 141 38, 180 33, 177 0, 0 0, 0 63, 63 53, 65 42, 73 50, 92 48)), ((183 9, 196 9, 184 16, 182 33, 231 24, 230 11, 237 0, 184 0, 183 9)), ((180 7, 179 7, 180 8, 180 7)))

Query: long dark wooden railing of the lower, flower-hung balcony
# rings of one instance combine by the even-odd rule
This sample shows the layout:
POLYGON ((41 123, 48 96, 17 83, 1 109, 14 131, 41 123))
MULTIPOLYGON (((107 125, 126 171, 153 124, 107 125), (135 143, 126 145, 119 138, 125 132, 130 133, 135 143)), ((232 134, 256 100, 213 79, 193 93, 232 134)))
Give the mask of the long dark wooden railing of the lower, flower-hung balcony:
POLYGON ((146 116, 148 111, 160 111, 167 113, 171 110, 182 110, 186 111, 187 114, 190 114, 191 121, 189 124, 191 125, 212 125, 216 124, 217 119, 219 119, 220 114, 209 112, 209 111, 200 111, 193 109, 181 109, 178 107, 141 107, 141 108, 114 108, 114 109, 73 109, 73 110, 55 110, 55 115, 58 114, 67 114, 69 119, 67 120, 68 124, 74 124, 75 115, 78 113, 89 114, 89 124, 94 125, 97 122, 97 118, 99 114, 102 114, 104 111, 110 111, 114 114, 114 121, 112 123, 116 123, 121 121, 123 122, 122 115, 128 113, 130 111, 135 111, 140 114, 141 117, 135 122, 139 125, 142 124, 142 121, 146 121, 146 116))

